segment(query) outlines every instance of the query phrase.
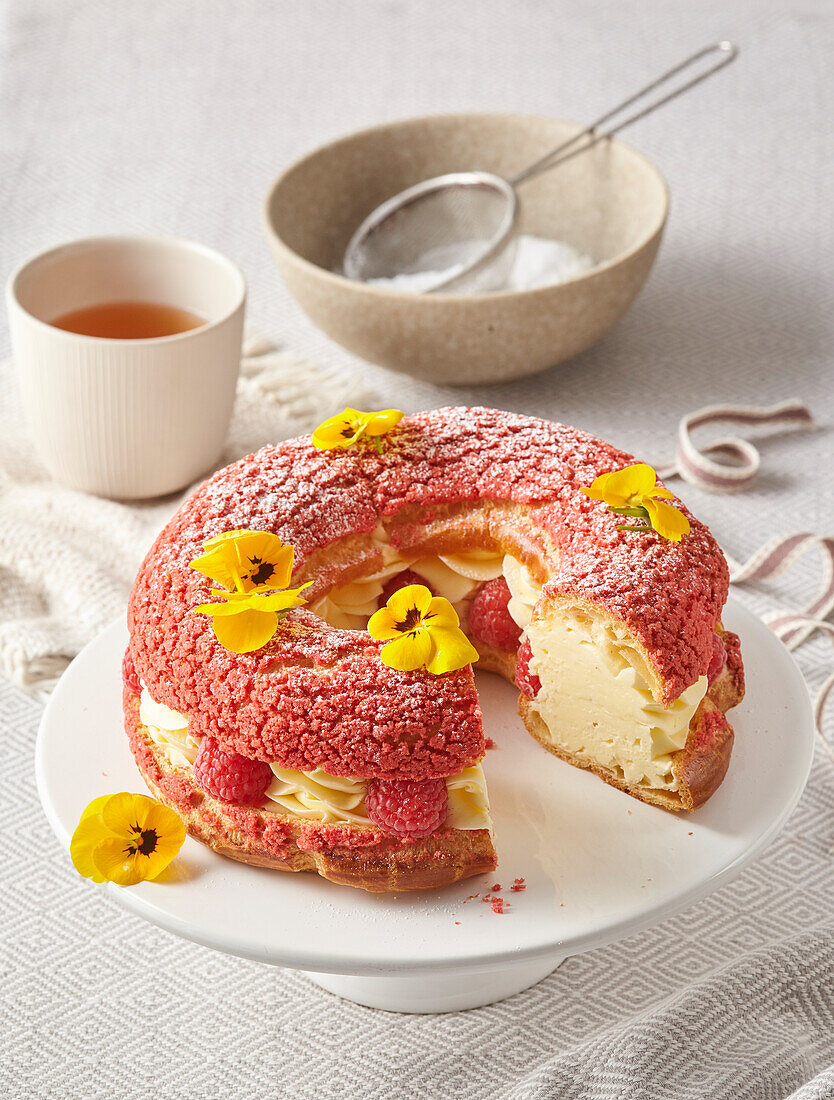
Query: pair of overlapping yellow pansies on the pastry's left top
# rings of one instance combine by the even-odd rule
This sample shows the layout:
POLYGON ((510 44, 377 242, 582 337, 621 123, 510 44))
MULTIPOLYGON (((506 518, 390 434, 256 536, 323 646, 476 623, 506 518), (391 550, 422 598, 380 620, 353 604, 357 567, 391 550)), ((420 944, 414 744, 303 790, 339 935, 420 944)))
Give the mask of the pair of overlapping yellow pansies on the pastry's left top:
POLYGON ((287 588, 295 551, 272 531, 226 531, 204 543, 206 551, 191 569, 223 588, 212 588, 218 603, 195 610, 211 615, 215 637, 234 653, 261 649, 278 629, 290 607, 307 603, 299 595, 312 584, 287 588))

